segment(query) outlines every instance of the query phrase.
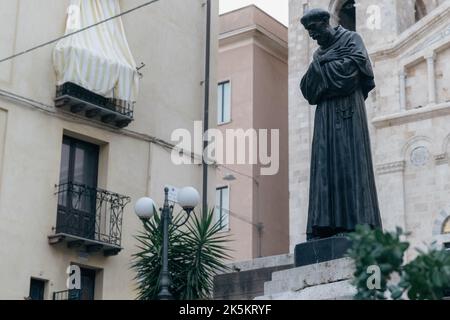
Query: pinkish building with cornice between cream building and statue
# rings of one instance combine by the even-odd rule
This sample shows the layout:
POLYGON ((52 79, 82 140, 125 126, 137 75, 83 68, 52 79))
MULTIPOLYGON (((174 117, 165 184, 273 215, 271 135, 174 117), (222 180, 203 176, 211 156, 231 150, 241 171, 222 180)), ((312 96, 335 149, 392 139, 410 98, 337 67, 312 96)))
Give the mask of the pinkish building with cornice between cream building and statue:
POLYGON ((274 173, 262 174, 261 161, 218 166, 216 214, 223 216, 234 261, 289 250, 287 35, 284 25, 253 5, 220 16, 218 129, 224 136, 268 130, 269 146, 271 131, 279 131, 279 146, 272 142, 268 149, 279 153, 274 173))

